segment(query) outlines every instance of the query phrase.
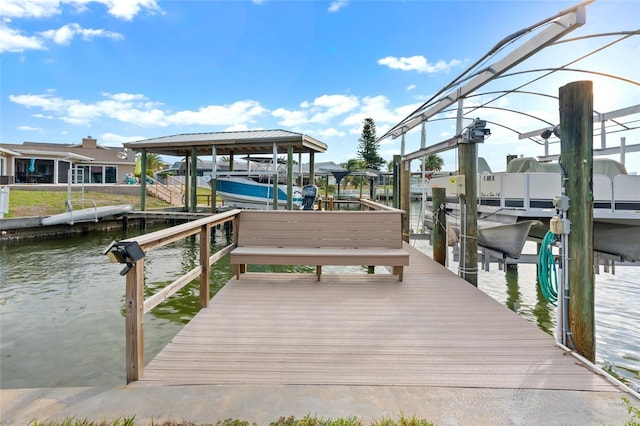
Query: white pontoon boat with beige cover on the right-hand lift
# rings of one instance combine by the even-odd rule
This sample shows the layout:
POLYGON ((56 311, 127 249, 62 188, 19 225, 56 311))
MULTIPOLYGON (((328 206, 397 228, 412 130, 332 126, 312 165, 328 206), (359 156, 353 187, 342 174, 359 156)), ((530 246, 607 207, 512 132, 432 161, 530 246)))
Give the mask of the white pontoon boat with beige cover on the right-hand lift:
MULTIPOLYGON (((539 220, 541 224, 531 227, 529 237, 540 240, 549 229, 549 220, 556 215, 553 200, 562 193, 561 174, 546 171, 554 167, 540 164, 534 158, 516 160, 512 160, 506 172, 479 175, 478 217, 499 223, 539 220)), ((431 179, 427 205, 431 204, 430 188, 447 188, 449 181, 450 176, 431 179)), ((596 252, 621 260, 640 261, 638 188, 639 175, 626 174, 624 166, 617 161, 594 158, 593 240, 596 252)), ((458 198, 448 194, 447 206, 457 210, 458 198)))

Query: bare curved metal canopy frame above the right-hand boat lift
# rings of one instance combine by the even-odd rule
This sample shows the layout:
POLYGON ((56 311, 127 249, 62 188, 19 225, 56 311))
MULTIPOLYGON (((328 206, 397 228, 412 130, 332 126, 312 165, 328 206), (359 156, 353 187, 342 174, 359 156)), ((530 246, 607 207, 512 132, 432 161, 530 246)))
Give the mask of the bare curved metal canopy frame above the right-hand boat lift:
MULTIPOLYGON (((538 34, 535 37, 531 37, 528 41, 522 42, 520 44, 520 47, 516 48, 513 52, 508 54, 505 53, 502 60, 496 61, 494 64, 484 67, 475 73, 473 73, 473 70, 470 67, 461 76, 459 76, 458 78, 453 80, 453 82, 446 85, 443 89, 437 92, 436 95, 431 97, 431 99, 429 99, 427 102, 422 104, 412 114, 410 114, 404 120, 402 120, 393 128, 391 128, 384 136, 379 138, 379 141, 388 137, 395 139, 401 136, 403 139, 402 141, 403 149, 401 152, 402 158, 404 160, 419 159, 430 154, 436 154, 443 151, 455 149, 458 146, 457 136, 459 136, 459 133, 462 127, 464 126, 463 123, 470 122, 473 118, 480 116, 483 111, 501 110, 508 113, 519 114, 520 117, 524 117, 525 119, 528 117, 530 119, 539 120, 542 122, 541 124, 543 126, 545 126, 544 124, 545 122, 549 123, 544 128, 530 130, 531 128, 535 128, 535 123, 533 123, 532 125, 531 122, 528 122, 527 124, 528 128, 526 130, 520 130, 518 129, 518 124, 521 127, 522 125, 521 123, 519 123, 521 120, 518 118, 518 116, 515 116, 513 120, 510 120, 510 124, 508 126, 505 126, 499 122, 503 120, 494 120, 494 121, 486 120, 487 123, 490 123, 493 126, 498 126, 510 132, 515 133, 518 136, 518 139, 520 140, 529 139, 540 146, 544 146, 545 147, 544 155, 548 156, 549 155, 548 149, 550 144, 557 143, 559 139, 554 135, 551 136, 551 139, 544 138, 543 132, 545 132, 546 130, 553 129, 555 125, 549 122, 548 117, 539 117, 535 114, 535 112, 533 114, 527 114, 526 112, 527 103, 526 101, 523 101, 522 98, 513 98, 516 101, 516 104, 518 103, 518 101, 521 103, 519 108, 518 107, 503 108, 501 106, 498 106, 497 101, 499 99, 505 96, 509 96, 509 98, 507 99, 511 100, 511 95, 524 95, 524 96, 537 95, 540 97, 549 98, 550 100, 553 101, 553 99, 557 99, 557 95, 546 92, 546 89, 544 89, 544 87, 546 86, 544 86, 543 79, 551 75, 556 75, 555 73, 558 73, 560 71, 589 73, 593 76, 610 79, 611 81, 617 81, 618 83, 625 85, 625 88, 623 90, 626 90, 627 85, 629 85, 632 90, 637 90, 640 87, 640 82, 634 81, 633 79, 612 75, 606 72, 600 72, 600 69, 598 68, 598 64, 606 64, 608 62, 606 59, 607 57, 602 57, 602 56, 598 57, 597 62, 592 62, 591 66, 588 67, 588 69, 574 69, 573 67, 571 67, 578 61, 585 60, 587 58, 590 58, 593 60, 593 58, 591 58, 592 56, 600 52, 603 52, 606 49, 610 48, 611 46, 617 43, 620 43, 624 40, 627 40, 630 37, 640 35, 640 30, 633 30, 633 31, 604 32, 600 34, 588 34, 588 35, 582 35, 579 37, 561 39, 562 36, 569 33, 570 31, 573 31, 574 29, 579 28, 586 22, 585 6, 591 2, 592 1, 585 1, 573 8, 567 9, 566 11, 561 12, 560 14, 557 14, 553 18, 549 18, 545 21, 542 21, 545 25, 547 25, 546 28, 541 30, 543 31, 542 34, 538 34), (555 58, 566 57, 567 58, 566 61, 563 61, 561 65, 557 65, 555 67, 550 67, 545 69, 536 69, 536 70, 531 70, 531 69, 527 70, 527 69, 523 69, 522 67, 518 67, 519 69, 515 69, 510 72, 507 72, 508 70, 512 69, 516 65, 522 63, 526 58, 531 57, 534 53, 541 52, 546 47, 562 45, 569 42, 579 42, 580 40, 586 40, 586 39, 593 40, 597 38, 611 38, 611 37, 616 37, 616 38, 613 40, 606 40, 605 43, 603 43, 599 47, 598 46, 593 47, 592 45, 588 46, 586 50, 587 53, 585 53, 585 49, 582 49, 582 53, 580 53, 580 51, 576 49, 575 55, 570 54, 568 57, 566 57, 566 56, 554 54, 549 58, 553 61, 555 58), (503 80, 517 78, 518 76, 524 76, 526 74, 532 74, 532 77, 525 80, 521 79, 519 81, 512 83, 511 85, 505 85, 504 83, 499 83, 503 80), (493 84, 489 85, 489 83, 493 83, 493 84), (534 84, 537 84, 538 86, 542 85, 543 88, 542 89, 538 88, 537 90, 523 89, 525 86, 530 86, 534 84), (490 88, 486 88, 484 92, 480 92, 478 90, 480 87, 487 87, 487 86, 490 88), (452 89, 455 87, 457 87, 455 90, 452 89), (441 93, 445 93, 447 90, 449 90, 448 94, 440 98, 437 98, 438 96, 440 96, 441 93), (481 96, 487 96, 487 95, 492 95, 492 96, 490 96, 489 99, 481 100, 479 105, 475 104, 473 106, 463 106, 462 104, 463 100, 467 98, 474 98, 474 97, 480 98, 481 96), (456 105, 454 105, 456 102, 458 103, 457 107, 456 105), (452 105, 453 107, 451 107, 452 105), (451 117, 449 114, 452 111, 455 111, 456 108, 458 109, 457 118, 451 117), (543 118, 546 118, 546 120, 543 118), (453 135, 449 139, 446 139, 441 142, 437 142, 435 144, 431 144, 427 148, 425 148, 427 146, 427 143, 426 143, 426 134, 425 134, 424 125, 427 122, 434 123, 434 122, 444 121, 444 120, 458 121, 455 135, 453 135), (404 152, 405 134, 411 131, 412 129, 414 129, 418 124, 423 125, 422 138, 421 138, 421 144, 420 144, 421 149, 405 155, 405 152, 404 152)), ((512 42, 513 40, 515 40, 515 38, 521 36, 522 34, 532 31, 533 29, 539 29, 541 26, 542 26, 541 24, 530 26, 525 30, 521 30, 517 32, 515 36, 509 36, 505 38, 505 40, 512 42)), ((489 52, 488 54, 485 54, 481 60, 477 61, 476 64, 474 64, 474 67, 478 66, 478 64, 480 64, 480 62, 483 60, 488 61, 487 58, 491 57, 492 54, 497 52, 505 44, 506 43, 504 41, 498 43, 498 45, 494 47, 491 52, 489 52)), ((573 49, 571 53, 573 53, 573 49)), ((554 84, 548 87, 557 88, 559 86, 554 84)), ((549 108, 555 109, 557 108, 557 104, 553 104, 549 108)), ((601 149, 598 151, 598 154, 599 155, 605 154, 605 153, 612 154, 612 153, 619 152, 622 158, 622 155, 623 155, 622 149, 624 149, 622 148, 622 145, 625 143, 624 142, 625 138, 621 138, 620 140, 621 147, 618 148, 618 151, 616 151, 615 148, 610 149, 606 147, 607 145, 606 137, 607 135, 611 135, 614 133, 628 132, 628 131, 640 129, 639 114, 640 114, 640 107, 638 105, 617 109, 611 112, 594 111, 594 121, 600 122, 599 132, 597 131, 594 132, 594 136, 599 136, 602 141, 600 144, 601 149)), ((485 117, 482 117, 482 118, 484 119, 485 117)), ((551 121, 554 121, 554 120, 552 119, 551 121)), ((548 136, 548 134, 546 136, 548 136)), ((636 141, 634 140, 632 141, 632 144, 626 145, 626 152, 637 152, 636 145, 633 144, 634 142, 636 141)))

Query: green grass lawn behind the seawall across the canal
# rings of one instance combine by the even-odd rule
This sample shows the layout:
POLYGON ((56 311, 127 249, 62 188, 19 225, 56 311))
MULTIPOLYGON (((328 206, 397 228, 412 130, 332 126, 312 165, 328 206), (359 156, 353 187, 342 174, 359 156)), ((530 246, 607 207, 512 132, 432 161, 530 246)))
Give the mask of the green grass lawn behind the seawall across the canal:
MULTIPOLYGON (((87 191, 84 194, 84 198, 85 200, 95 201, 98 207, 133 204, 137 209, 140 208, 139 195, 116 195, 87 191)), ((9 194, 9 214, 5 214, 4 217, 49 216, 64 213, 66 211, 66 201, 66 191, 20 191, 12 189, 9 194)), ((146 204, 146 207, 149 209, 171 207, 169 203, 165 203, 151 196, 147 196, 146 204)), ((85 207, 92 206, 93 204, 90 201, 85 201, 85 207)), ((74 208, 75 207, 76 204, 74 204, 74 208)))

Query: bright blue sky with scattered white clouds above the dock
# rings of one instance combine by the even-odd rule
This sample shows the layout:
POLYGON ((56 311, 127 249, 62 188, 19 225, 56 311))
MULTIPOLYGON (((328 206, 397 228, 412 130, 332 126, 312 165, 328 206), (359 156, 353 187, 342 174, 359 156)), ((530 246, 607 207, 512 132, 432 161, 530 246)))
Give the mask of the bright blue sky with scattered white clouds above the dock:
MULTIPOLYGON (((279 128, 327 143, 316 161, 341 163, 357 156, 364 118, 375 120, 381 136, 499 40, 574 4, 0 0, 0 142, 77 143, 92 135, 121 146, 179 133, 279 128)), ((570 36, 639 27, 640 2, 598 0, 587 7, 587 24, 570 36)), ((613 39, 552 47, 521 68, 553 66, 565 54, 613 39)), ((598 70, 637 83, 639 39, 576 67, 592 60, 598 70)), ((557 96, 561 85, 586 78, 566 73, 529 87, 557 96)), ((502 87, 516 79, 504 79, 502 87)), ((558 122, 557 101, 501 102, 558 122)), ((637 84, 594 79, 599 112, 638 103, 637 84)), ((545 126, 497 110, 481 118, 523 132, 545 126)), ((427 145, 453 132, 453 121, 429 124, 427 145)), ((543 154, 512 132, 492 133, 480 155, 494 170, 504 169, 507 154, 543 154)), ((618 134, 611 136, 608 146, 618 145, 618 134)), ((638 133, 626 143, 640 143, 638 133)), ((406 144, 407 152, 420 147, 419 129, 406 144)), ((400 139, 382 141, 385 159, 399 153, 400 139)), ((443 157, 453 169, 455 155, 443 157)), ((640 171, 640 154, 627 155, 627 168, 640 171)))

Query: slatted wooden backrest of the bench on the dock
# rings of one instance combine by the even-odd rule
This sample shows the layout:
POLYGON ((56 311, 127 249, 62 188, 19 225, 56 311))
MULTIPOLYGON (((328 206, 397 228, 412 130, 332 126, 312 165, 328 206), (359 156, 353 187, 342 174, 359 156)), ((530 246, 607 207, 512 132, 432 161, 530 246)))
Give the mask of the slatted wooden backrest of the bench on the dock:
POLYGON ((400 211, 243 210, 237 226, 239 247, 402 248, 400 211))

